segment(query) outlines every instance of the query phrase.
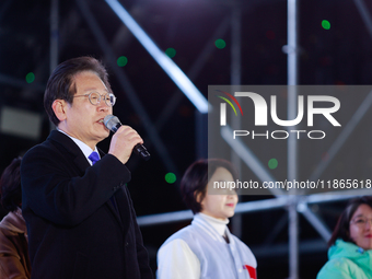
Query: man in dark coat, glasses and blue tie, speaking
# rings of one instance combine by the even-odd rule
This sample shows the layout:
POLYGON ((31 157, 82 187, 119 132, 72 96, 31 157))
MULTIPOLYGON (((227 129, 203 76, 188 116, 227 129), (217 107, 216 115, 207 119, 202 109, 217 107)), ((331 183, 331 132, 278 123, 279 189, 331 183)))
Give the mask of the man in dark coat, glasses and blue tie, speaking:
POLYGON ((92 57, 67 60, 49 78, 44 106, 57 130, 21 166, 32 278, 153 278, 126 187, 125 163, 142 139, 121 126, 107 154, 96 148, 115 101, 92 57))

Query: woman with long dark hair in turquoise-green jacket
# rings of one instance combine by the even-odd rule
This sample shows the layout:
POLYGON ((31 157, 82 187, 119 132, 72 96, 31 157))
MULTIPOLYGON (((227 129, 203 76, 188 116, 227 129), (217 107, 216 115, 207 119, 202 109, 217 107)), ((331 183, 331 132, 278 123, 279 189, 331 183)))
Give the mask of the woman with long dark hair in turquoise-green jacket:
POLYGON ((372 279, 372 197, 352 199, 328 242, 329 260, 317 279, 372 279))

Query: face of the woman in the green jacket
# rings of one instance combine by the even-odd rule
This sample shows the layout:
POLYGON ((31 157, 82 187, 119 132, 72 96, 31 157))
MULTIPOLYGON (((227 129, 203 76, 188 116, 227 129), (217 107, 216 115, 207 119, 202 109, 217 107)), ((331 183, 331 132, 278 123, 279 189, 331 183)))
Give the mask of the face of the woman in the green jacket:
POLYGON ((350 226, 350 239, 363 249, 372 249, 372 208, 360 205, 353 213, 350 226))

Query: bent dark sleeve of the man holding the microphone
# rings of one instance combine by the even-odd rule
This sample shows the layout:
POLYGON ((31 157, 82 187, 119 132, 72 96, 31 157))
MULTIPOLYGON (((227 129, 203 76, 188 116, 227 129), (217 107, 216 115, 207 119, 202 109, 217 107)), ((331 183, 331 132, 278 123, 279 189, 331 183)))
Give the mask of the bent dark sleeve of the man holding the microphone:
POLYGON ((111 154, 90 166, 83 155, 37 146, 23 158, 21 177, 23 208, 53 223, 73 226, 129 182, 130 172, 111 154))

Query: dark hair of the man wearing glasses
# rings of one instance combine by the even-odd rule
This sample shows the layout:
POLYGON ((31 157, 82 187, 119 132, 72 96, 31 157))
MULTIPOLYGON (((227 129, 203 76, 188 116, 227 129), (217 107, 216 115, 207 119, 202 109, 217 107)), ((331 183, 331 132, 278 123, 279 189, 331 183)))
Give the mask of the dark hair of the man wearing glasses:
POLYGON ((56 100, 65 100, 67 103, 72 104, 73 95, 77 93, 77 88, 73 82, 74 77, 83 71, 95 72, 106 85, 107 90, 109 92, 112 91, 106 68, 97 59, 83 56, 61 62, 50 74, 44 94, 44 108, 50 121, 56 126, 58 126, 59 119, 51 108, 53 102, 56 100))

